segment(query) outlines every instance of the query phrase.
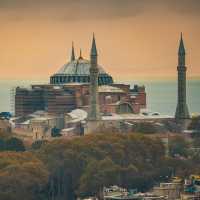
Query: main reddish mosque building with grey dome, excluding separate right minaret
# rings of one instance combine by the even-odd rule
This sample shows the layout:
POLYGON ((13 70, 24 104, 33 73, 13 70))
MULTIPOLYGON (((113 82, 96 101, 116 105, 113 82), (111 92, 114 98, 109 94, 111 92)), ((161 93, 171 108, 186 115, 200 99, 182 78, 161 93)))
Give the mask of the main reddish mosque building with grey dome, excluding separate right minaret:
POLYGON ((36 111, 59 115, 82 109, 89 113, 89 108, 92 105, 95 108, 96 104, 102 116, 112 113, 139 114, 141 109, 146 108, 146 92, 144 86, 134 85, 131 88, 129 84, 114 82, 113 77, 97 62, 95 37, 89 60, 83 58, 81 52, 76 58, 72 45, 70 61, 50 77, 49 84, 17 87, 15 91, 15 115, 21 117, 36 111), (91 71, 93 65, 96 67, 91 71), (93 72, 97 82, 91 76, 93 72), (91 92, 96 95, 93 100, 91 92))

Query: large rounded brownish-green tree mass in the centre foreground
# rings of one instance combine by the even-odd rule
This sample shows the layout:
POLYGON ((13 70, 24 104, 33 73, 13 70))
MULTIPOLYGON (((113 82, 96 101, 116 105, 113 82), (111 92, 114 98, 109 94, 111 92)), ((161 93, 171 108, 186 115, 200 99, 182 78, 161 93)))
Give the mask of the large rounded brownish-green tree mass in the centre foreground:
POLYGON ((51 193, 73 199, 112 184, 148 189, 159 177, 164 147, 160 140, 143 136, 101 134, 56 140, 44 146, 39 157, 52 174, 51 193))

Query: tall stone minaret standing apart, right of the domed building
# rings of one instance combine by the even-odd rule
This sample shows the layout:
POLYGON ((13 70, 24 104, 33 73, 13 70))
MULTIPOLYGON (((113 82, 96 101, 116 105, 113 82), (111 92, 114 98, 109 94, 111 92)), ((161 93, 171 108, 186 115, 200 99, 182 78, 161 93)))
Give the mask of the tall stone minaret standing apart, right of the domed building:
POLYGON ((178 103, 176 107, 176 119, 189 119, 189 111, 186 103, 186 71, 185 66, 185 48, 183 43, 183 37, 181 33, 181 39, 178 50, 178 103))

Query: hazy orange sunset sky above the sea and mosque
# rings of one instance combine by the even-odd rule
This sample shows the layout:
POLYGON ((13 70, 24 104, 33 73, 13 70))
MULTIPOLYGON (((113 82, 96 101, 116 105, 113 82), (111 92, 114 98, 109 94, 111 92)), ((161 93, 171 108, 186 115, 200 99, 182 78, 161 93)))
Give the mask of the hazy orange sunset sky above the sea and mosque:
POLYGON ((0 79, 48 79, 76 54, 118 80, 175 78, 183 32, 188 76, 200 77, 199 0, 0 0, 0 79))

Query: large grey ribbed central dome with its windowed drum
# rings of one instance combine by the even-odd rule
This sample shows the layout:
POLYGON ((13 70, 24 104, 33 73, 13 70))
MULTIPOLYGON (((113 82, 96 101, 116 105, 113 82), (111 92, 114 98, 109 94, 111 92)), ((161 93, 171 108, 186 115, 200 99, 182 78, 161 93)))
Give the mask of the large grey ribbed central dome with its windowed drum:
MULTIPOLYGON (((104 69, 99 68, 99 85, 109 85, 113 83, 112 77, 107 74, 104 69)), ((80 56, 78 59, 72 60, 63 65, 60 70, 50 78, 51 84, 65 83, 89 83, 90 82, 90 61, 80 56)))

